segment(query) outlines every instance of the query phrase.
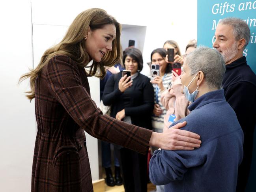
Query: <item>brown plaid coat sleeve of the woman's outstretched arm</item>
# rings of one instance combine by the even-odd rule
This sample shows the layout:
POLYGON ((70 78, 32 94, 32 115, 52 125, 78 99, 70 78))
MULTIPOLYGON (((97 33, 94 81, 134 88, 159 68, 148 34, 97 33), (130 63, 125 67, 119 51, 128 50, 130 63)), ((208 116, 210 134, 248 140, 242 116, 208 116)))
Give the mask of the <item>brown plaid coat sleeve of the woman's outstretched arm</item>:
POLYGON ((90 97, 85 70, 71 58, 53 57, 46 74, 50 92, 82 129, 100 140, 146 153, 152 131, 103 115, 90 97), (87 86, 82 84, 82 76, 87 86))

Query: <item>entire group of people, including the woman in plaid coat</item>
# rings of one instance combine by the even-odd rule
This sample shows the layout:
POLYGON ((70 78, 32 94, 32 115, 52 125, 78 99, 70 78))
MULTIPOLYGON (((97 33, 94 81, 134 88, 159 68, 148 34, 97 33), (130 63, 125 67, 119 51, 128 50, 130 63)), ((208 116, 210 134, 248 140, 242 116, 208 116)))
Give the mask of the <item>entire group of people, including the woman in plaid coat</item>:
POLYGON ((26 97, 35 99, 32 191, 93 191, 84 131, 105 141, 109 186, 146 192, 150 180, 157 192, 245 191, 256 125, 256 75, 243 56, 247 23, 220 20, 213 48, 191 41, 184 55, 166 41, 151 52, 149 77, 141 74, 140 50, 122 55, 120 37, 114 17, 87 9, 21 76, 30 79, 26 97), (88 76, 105 77, 100 109, 88 76))

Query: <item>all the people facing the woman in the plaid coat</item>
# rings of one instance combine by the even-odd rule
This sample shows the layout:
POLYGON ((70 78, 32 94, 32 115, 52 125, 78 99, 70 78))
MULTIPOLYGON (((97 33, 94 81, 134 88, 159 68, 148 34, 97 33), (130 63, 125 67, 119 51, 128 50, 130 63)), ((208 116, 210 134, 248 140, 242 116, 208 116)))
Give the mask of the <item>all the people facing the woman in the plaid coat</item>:
POLYGON ((166 41, 163 48, 151 52, 149 67, 159 65, 154 77, 140 73, 144 61, 134 47, 126 48, 119 62, 107 68, 100 82, 103 113, 155 132, 187 121, 184 129, 202 140, 193 152, 151 148, 155 153, 150 164, 148 154, 114 145, 114 177, 110 144, 102 142, 107 185, 124 184, 126 192, 146 192, 149 174, 158 192, 164 186, 166 191, 182 187, 193 191, 200 185, 201 191, 212 186, 213 191, 245 189, 256 123, 256 76, 243 56, 250 31, 242 20, 227 18, 219 22, 215 37, 213 48, 196 48, 196 40, 191 40, 183 55, 176 41, 166 41), (174 49, 172 62, 170 48, 174 49), (176 63, 182 75, 174 71, 176 63), (131 76, 123 76, 123 70, 130 70, 131 76), (214 171, 219 176, 213 178, 214 171), (204 176, 211 182, 204 183, 204 176), (225 187, 218 186, 222 184, 225 187))

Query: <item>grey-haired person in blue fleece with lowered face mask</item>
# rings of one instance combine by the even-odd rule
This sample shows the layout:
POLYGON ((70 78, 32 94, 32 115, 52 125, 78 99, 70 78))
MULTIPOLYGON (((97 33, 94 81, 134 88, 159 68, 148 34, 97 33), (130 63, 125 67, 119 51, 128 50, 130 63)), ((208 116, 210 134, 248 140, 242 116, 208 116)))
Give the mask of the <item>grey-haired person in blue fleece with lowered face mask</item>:
POLYGON ((200 134, 194 151, 157 150, 149 164, 149 178, 168 192, 235 192, 237 169, 243 158, 243 131, 220 89, 225 72, 221 54, 207 47, 188 54, 181 75, 181 92, 192 102, 184 130, 200 134))

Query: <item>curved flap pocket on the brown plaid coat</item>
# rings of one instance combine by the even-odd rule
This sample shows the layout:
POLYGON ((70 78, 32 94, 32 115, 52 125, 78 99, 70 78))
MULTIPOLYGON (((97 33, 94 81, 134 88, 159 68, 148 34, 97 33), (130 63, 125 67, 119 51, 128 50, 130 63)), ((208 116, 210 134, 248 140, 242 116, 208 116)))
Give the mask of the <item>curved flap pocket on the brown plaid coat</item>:
POLYGON ((65 164, 80 164, 78 150, 73 145, 59 147, 52 158, 52 166, 65 166, 65 164))

